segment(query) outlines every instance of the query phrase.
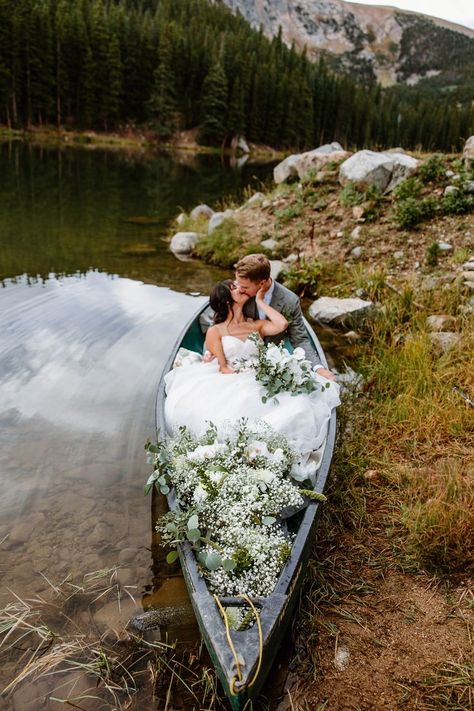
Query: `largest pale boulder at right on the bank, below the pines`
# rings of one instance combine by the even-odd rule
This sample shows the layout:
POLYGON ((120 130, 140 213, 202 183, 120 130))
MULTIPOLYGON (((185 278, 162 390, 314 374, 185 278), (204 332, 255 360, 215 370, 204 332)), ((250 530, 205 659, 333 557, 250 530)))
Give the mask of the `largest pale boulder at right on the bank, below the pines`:
POLYGON ((416 158, 405 153, 358 151, 339 168, 339 182, 354 183, 362 190, 375 185, 382 192, 389 192, 412 175, 418 165, 416 158))

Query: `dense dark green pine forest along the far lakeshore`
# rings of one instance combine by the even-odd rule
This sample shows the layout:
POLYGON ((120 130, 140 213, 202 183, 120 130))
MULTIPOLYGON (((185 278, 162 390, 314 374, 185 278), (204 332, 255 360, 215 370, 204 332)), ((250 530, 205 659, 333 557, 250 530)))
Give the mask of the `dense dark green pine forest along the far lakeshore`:
POLYGON ((0 123, 458 150, 472 97, 357 83, 207 0, 0 0, 0 123))

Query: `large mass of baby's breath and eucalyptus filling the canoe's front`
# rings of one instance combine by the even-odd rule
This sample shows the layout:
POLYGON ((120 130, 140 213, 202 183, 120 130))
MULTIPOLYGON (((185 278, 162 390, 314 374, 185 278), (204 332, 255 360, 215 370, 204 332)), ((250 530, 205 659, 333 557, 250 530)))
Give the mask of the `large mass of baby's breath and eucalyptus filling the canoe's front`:
MULTIPOLYGON (((157 524, 164 544, 188 541, 211 592, 221 596, 269 595, 291 553, 284 516, 304 497, 324 496, 291 480, 296 455, 266 423, 245 420, 202 437, 186 427, 166 443, 148 445, 155 471, 145 493, 174 487, 178 507, 157 524)), ((169 563, 177 551, 167 556, 169 563)))

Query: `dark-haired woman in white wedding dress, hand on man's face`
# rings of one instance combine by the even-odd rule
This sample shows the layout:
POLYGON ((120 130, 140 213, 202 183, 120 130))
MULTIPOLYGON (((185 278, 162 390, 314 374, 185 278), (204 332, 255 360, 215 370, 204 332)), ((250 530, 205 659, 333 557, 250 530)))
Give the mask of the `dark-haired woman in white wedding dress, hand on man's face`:
POLYGON ((300 472, 311 475, 317 465, 314 456, 324 442, 332 408, 339 405, 339 386, 315 374, 324 389, 309 394, 282 392, 278 401, 262 402, 263 389, 251 370, 236 373, 256 352, 251 333, 261 338, 284 331, 288 322, 266 304, 264 291, 256 294, 257 307, 265 320, 246 318, 243 306, 248 294, 241 293, 230 279, 217 284, 210 296, 215 325, 206 334, 206 348, 214 356, 210 362, 175 368, 165 376, 165 420, 169 432, 185 425, 199 436, 212 422, 217 429, 244 417, 249 422, 264 420, 283 434, 300 455, 300 472), (329 383, 329 386, 327 384, 329 383))

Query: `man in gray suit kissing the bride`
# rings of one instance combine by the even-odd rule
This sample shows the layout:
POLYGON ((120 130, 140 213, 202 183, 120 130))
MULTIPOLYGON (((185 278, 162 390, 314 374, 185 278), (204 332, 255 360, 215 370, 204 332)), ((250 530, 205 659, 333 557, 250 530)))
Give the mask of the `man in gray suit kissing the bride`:
MULTIPOLYGON (((288 320, 289 326, 285 333, 266 340, 278 342, 285 337, 288 338, 294 348, 297 346, 303 348, 306 358, 313 364, 314 370, 319 375, 329 380, 336 379, 334 374, 321 364, 319 356, 308 338, 299 297, 271 278, 270 262, 264 254, 249 254, 239 259, 235 265, 235 281, 240 293, 250 297, 255 297, 257 291, 263 288, 265 303, 273 306, 288 320)), ((258 312, 255 298, 250 298, 247 301, 244 313, 249 318, 265 318, 265 314, 258 312)))

